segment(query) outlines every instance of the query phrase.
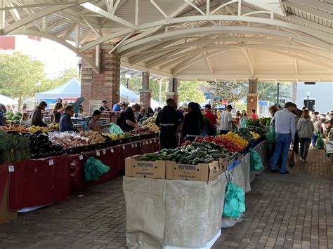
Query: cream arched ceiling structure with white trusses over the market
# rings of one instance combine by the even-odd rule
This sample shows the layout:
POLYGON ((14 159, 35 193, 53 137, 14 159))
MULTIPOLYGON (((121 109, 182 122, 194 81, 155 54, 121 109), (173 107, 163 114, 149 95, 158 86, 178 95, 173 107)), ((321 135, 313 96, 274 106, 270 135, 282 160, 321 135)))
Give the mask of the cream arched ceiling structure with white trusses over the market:
POLYGON ((1 0, 0 34, 84 51, 112 43, 122 67, 202 80, 333 81, 332 0, 1 0))

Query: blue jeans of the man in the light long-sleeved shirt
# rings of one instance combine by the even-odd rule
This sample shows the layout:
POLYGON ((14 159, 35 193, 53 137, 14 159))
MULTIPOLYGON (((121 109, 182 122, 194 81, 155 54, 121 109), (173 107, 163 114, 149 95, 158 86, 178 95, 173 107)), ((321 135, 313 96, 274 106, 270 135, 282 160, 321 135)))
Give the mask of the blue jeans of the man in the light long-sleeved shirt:
POLYGON ((272 170, 276 170, 276 164, 278 163, 280 154, 282 152, 281 173, 285 173, 287 170, 287 157, 291 142, 292 135, 276 133, 275 151, 273 155, 273 163, 271 166, 272 170))

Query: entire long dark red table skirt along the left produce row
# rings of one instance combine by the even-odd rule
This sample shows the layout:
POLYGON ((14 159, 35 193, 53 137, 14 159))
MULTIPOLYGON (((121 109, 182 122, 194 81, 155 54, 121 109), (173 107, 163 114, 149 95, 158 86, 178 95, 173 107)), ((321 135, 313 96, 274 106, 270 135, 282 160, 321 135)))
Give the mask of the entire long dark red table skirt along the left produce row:
POLYGON ((81 154, 0 165, 0 203, 7 179, 9 210, 63 202, 70 189, 82 189, 117 177, 118 170, 124 169, 126 157, 157 150, 158 140, 152 138, 81 154), (91 156, 110 166, 110 170, 96 181, 86 181, 84 178, 84 162, 91 156), (8 166, 13 166, 14 171, 9 172, 8 166))

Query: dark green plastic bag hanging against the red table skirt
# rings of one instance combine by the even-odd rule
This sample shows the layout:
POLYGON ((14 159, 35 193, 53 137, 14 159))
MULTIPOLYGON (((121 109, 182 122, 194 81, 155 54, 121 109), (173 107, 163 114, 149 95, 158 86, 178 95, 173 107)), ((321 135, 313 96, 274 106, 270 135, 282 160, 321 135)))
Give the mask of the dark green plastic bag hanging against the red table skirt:
POLYGON ((84 177, 87 181, 96 181, 98 178, 110 170, 109 166, 104 165, 100 160, 90 157, 84 163, 84 177))

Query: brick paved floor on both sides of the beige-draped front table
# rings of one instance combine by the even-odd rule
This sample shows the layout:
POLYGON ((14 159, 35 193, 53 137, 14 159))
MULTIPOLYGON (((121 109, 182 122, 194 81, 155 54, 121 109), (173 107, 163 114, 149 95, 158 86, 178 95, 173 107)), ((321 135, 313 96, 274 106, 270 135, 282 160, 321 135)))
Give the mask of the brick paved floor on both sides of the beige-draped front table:
MULTIPOLYGON (((289 175, 263 173, 246 196, 244 221, 223 229, 214 248, 333 248, 333 182, 312 150, 289 175), (319 163, 317 163, 319 161, 319 163)), ((123 248, 122 177, 75 192, 0 225, 0 248, 123 248)))

